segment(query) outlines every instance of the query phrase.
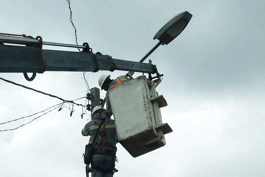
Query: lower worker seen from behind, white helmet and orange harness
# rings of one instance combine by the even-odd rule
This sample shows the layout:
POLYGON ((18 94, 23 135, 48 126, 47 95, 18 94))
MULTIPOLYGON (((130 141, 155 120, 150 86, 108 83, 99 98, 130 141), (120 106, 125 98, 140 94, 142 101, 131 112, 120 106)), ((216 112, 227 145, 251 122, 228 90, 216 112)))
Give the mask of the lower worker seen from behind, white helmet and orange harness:
POLYGON ((114 120, 108 119, 106 110, 100 106, 95 106, 91 115, 93 120, 85 125, 82 135, 90 135, 90 143, 94 142, 90 160, 92 177, 112 177, 113 173, 117 172, 114 168, 117 151, 114 120))

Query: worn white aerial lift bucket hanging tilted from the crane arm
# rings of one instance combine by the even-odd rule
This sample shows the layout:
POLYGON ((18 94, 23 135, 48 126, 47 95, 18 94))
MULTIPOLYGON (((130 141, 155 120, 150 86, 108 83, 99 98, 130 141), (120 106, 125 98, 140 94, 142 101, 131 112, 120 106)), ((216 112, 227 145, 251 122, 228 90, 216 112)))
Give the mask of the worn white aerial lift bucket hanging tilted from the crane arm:
POLYGON ((155 87, 139 76, 108 91, 118 140, 133 157, 164 146, 164 135, 172 132, 162 123, 160 108, 167 102, 155 87))

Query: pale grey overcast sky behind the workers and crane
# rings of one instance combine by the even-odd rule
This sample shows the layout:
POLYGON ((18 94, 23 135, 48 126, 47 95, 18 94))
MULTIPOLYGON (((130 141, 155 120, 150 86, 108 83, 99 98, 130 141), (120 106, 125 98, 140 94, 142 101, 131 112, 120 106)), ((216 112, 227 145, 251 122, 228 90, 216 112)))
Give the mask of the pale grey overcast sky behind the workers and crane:
MULTIPOLYGON (((88 42, 94 53, 133 61, 158 42, 153 37, 170 18, 184 11, 193 15, 173 42, 148 57, 164 74, 157 91, 167 100, 162 120, 173 132, 165 135, 164 147, 137 158, 117 144, 114 176, 265 176, 264 1, 80 0, 71 1, 71 8, 80 45, 88 42)), ((66 0, 1 1, 0 32, 75 44, 69 14, 66 0)), ((101 74, 125 73, 85 77, 93 88, 101 74)), ((82 72, 44 72, 32 82, 22 73, 0 77, 66 100, 87 92, 82 72)), ((0 123, 61 103, 4 81, 0 86, 0 123)), ((85 176, 82 153, 89 138, 81 130, 89 117, 81 119, 82 108, 74 109, 72 117, 66 107, 57 108, 17 130, 0 132, 0 176, 85 176)), ((2 124, 0 130, 35 117, 2 124)))

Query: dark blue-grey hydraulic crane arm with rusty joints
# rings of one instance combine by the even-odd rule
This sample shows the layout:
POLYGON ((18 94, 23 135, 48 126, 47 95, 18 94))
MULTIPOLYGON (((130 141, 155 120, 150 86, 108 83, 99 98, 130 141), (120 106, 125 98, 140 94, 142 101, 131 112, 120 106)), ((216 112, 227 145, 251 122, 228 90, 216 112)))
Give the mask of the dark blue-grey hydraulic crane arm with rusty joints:
POLYGON ((157 68, 151 63, 141 63, 112 58, 101 53, 92 53, 85 42, 83 45, 70 45, 53 42, 43 42, 42 37, 12 34, 0 34, 0 73, 24 73, 28 81, 32 81, 36 73, 44 71, 134 71, 148 73, 149 80, 160 78, 157 68), (2 35, 4 34, 4 35, 2 35), (4 43, 20 44, 5 45, 4 43), (23 46, 21 46, 21 44, 23 46), (82 52, 60 50, 43 50, 42 45, 82 48, 82 52), (28 78, 27 73, 33 73, 28 78), (156 74, 152 77, 151 74, 156 74))

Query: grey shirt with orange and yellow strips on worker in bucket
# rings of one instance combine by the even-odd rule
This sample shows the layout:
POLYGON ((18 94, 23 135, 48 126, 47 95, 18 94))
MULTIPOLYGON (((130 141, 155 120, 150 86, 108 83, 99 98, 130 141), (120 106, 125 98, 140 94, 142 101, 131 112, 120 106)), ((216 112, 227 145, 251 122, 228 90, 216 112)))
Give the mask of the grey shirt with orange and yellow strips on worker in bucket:
MULTIPOLYGON (((109 84, 109 89, 115 87, 115 86, 118 86, 120 84, 123 84, 125 82, 128 82, 130 79, 127 78, 126 76, 119 76, 117 77, 116 79, 114 79, 110 84, 109 84), (118 79, 118 81, 116 80, 118 79), (120 82, 119 82, 120 81, 120 82)), ((122 94, 122 93, 121 93, 122 94)), ((111 109, 111 106, 110 106, 110 99, 109 99, 109 93, 107 92, 106 93, 106 112, 107 112, 107 115, 110 117, 112 116, 112 109, 111 109)))

